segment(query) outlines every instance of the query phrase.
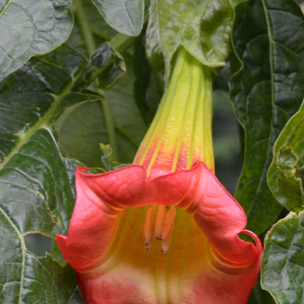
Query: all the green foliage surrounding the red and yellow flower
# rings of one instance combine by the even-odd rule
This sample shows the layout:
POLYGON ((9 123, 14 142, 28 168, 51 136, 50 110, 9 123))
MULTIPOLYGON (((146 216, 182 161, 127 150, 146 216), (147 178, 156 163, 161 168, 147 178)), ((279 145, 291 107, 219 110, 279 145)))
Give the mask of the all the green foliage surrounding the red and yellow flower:
POLYGON ((248 303, 304 303, 304 16, 294 0, 4 0, 0 33, 1 303, 82 303, 51 241, 67 233, 75 168, 106 169, 100 142, 132 162, 180 45, 214 67, 216 175, 265 236, 248 303))

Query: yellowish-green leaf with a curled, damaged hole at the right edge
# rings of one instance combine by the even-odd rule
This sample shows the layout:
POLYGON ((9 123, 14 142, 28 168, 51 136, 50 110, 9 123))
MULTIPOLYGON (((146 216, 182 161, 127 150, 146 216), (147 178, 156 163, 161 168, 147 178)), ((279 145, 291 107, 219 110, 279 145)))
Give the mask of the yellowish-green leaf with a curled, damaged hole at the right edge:
POLYGON ((303 210, 304 103, 291 117, 273 148, 273 160, 267 172, 269 188, 288 210, 303 210))

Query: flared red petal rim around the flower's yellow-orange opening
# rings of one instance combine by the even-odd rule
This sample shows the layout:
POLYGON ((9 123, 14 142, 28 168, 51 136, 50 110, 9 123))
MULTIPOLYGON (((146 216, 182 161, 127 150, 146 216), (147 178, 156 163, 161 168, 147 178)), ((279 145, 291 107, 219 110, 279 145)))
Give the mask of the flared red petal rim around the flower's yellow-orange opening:
MULTIPOLYGON (((77 199, 68 236, 57 235, 56 240, 64 258, 78 271, 85 304, 246 303, 260 270, 262 246, 255 234, 243 230, 243 209, 203 162, 153 179, 147 179, 146 169, 137 165, 96 175, 84 170, 76 171, 77 199), (204 262, 194 265, 193 272, 178 283, 176 296, 162 301, 156 298, 148 265, 153 260, 146 259, 142 271, 128 262, 130 256, 111 271, 103 268, 122 211, 150 205, 186 210, 206 239, 205 245, 198 244, 205 247, 204 262), (256 246, 241 240, 239 233, 250 234, 256 246)), ((187 264, 182 259, 180 263, 187 264)))

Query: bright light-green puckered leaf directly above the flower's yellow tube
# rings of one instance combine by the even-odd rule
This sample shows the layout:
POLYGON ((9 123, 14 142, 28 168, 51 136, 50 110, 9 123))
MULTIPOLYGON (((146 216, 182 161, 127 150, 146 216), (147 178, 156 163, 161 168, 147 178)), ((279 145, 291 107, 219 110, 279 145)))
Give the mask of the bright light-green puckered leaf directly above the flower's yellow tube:
POLYGON ((228 0, 152 0, 147 27, 147 56, 169 76, 171 58, 182 45, 203 64, 223 66, 231 50, 233 5, 228 0))

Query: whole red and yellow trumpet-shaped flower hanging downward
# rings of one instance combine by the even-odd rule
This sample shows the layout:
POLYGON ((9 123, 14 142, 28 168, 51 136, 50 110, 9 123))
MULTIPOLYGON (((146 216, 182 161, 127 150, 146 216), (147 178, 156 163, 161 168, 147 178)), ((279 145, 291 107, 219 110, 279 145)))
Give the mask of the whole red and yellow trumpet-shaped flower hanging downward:
POLYGON ((134 164, 77 169, 69 232, 56 240, 85 304, 247 302, 262 246, 212 172, 211 117, 211 72, 181 48, 134 164))

